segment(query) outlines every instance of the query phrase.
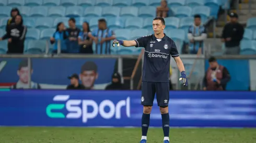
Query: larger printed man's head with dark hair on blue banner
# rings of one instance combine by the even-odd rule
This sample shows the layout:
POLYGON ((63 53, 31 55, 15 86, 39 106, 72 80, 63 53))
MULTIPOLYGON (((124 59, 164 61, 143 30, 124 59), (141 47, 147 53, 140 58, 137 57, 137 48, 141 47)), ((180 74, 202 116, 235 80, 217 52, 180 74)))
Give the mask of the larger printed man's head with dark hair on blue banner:
POLYGON ((86 89, 94 89, 94 83, 98 79, 98 67, 93 61, 87 61, 81 67, 80 79, 86 89))

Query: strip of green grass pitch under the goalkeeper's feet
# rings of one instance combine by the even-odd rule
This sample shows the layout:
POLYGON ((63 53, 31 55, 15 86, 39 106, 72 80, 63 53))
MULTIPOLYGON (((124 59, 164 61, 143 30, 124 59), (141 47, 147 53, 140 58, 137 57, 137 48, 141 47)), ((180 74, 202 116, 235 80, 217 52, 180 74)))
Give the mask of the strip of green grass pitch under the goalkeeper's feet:
MULTIPOLYGON (((162 128, 147 141, 162 142, 162 128)), ((139 142, 140 128, 0 127, 0 143, 139 142)), ((255 143, 256 128, 171 128, 171 143, 255 143)))

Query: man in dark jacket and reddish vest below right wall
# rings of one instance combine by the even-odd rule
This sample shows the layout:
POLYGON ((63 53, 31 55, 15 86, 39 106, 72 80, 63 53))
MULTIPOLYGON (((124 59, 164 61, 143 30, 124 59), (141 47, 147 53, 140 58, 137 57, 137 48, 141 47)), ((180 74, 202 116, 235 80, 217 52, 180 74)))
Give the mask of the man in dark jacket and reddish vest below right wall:
POLYGON ((211 57, 208 61, 210 67, 204 76, 203 89, 226 90, 226 85, 230 81, 230 74, 227 68, 219 65, 215 57, 211 57))

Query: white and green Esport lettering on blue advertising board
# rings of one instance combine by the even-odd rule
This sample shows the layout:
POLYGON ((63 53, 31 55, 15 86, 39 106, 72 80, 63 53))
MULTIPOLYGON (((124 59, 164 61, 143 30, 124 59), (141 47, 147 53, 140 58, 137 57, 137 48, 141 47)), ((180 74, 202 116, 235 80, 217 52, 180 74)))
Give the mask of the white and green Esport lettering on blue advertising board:
POLYGON ((99 103, 94 100, 69 99, 69 95, 56 95, 54 103, 46 107, 49 118, 82 119, 83 123, 96 118, 98 115, 103 119, 121 119, 121 108, 125 108, 126 116, 130 118, 130 97, 117 103, 111 100, 102 100, 99 103), (88 111, 88 109, 90 112, 88 111), (105 111, 104 108, 109 108, 105 111), (59 111, 58 111, 59 110, 59 111), (67 112, 64 113, 64 110, 67 112))

